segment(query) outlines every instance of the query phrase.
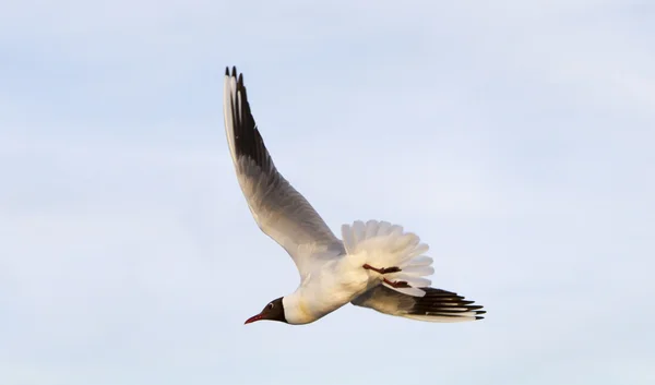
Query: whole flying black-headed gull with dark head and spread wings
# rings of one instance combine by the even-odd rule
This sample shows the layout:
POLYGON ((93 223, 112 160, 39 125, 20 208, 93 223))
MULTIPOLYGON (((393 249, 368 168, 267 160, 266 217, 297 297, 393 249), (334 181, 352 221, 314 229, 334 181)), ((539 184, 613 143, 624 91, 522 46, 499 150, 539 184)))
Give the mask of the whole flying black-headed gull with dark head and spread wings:
POLYGON ((252 116, 243 74, 225 69, 225 132, 239 187, 259 228, 277 242, 300 275, 298 288, 269 302, 250 324, 267 320, 305 325, 347 303, 425 321, 483 320, 481 305, 430 287, 428 245, 400 225, 355 220, 338 239, 319 213, 279 173, 252 116))

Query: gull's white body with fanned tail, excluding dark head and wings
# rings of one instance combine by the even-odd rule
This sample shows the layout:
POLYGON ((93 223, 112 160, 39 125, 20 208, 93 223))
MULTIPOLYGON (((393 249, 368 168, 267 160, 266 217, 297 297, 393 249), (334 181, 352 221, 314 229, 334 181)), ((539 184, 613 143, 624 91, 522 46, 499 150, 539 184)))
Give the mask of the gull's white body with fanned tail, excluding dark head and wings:
POLYGON ((346 254, 323 254, 315 257, 312 268, 302 276, 296 291, 283 298, 287 322, 307 324, 352 302, 379 285, 398 292, 422 297, 416 287, 430 286, 422 276, 433 273, 432 260, 421 255, 428 250, 414 233, 386 221, 356 221, 342 227, 346 254), (400 273, 381 275, 365 265, 378 268, 396 266, 400 273), (406 281, 409 288, 393 288, 383 282, 406 281))

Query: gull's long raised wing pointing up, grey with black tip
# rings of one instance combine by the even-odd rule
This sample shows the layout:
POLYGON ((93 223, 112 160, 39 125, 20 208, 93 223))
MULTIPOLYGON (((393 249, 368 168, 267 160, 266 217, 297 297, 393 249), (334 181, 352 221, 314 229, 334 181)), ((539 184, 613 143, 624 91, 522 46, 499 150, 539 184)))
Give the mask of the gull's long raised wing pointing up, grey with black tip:
POLYGON ((307 200, 277 172, 250 110, 243 75, 225 70, 223 112, 241 191, 260 229, 282 245, 300 276, 320 255, 344 253, 343 243, 307 200))

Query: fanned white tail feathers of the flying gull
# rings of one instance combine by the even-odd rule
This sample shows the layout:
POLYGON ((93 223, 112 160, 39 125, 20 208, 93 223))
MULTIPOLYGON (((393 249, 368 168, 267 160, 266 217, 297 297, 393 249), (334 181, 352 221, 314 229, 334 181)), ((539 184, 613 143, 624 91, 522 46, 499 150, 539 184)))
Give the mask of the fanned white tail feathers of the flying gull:
POLYGON ((383 285, 413 297, 425 296, 419 288, 430 286, 430 279, 425 276, 431 275, 434 269, 430 266, 432 258, 422 255, 429 246, 420 243, 418 236, 388 221, 369 220, 365 224, 357 220, 352 226, 342 226, 342 238, 349 255, 361 255, 367 264, 377 268, 398 267, 401 272, 385 274, 384 278, 406 281, 409 287, 383 285))

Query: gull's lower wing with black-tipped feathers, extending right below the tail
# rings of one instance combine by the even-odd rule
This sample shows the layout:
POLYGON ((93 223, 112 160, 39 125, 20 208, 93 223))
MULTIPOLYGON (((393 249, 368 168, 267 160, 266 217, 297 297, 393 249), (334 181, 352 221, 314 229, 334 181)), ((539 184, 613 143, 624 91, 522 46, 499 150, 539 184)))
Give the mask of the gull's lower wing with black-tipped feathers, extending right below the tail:
POLYGON ((485 311, 474 301, 466 301, 457 293, 420 288, 424 297, 403 294, 383 285, 376 286, 353 300, 353 304, 370 308, 380 313, 428 322, 464 322, 484 318, 485 311))

